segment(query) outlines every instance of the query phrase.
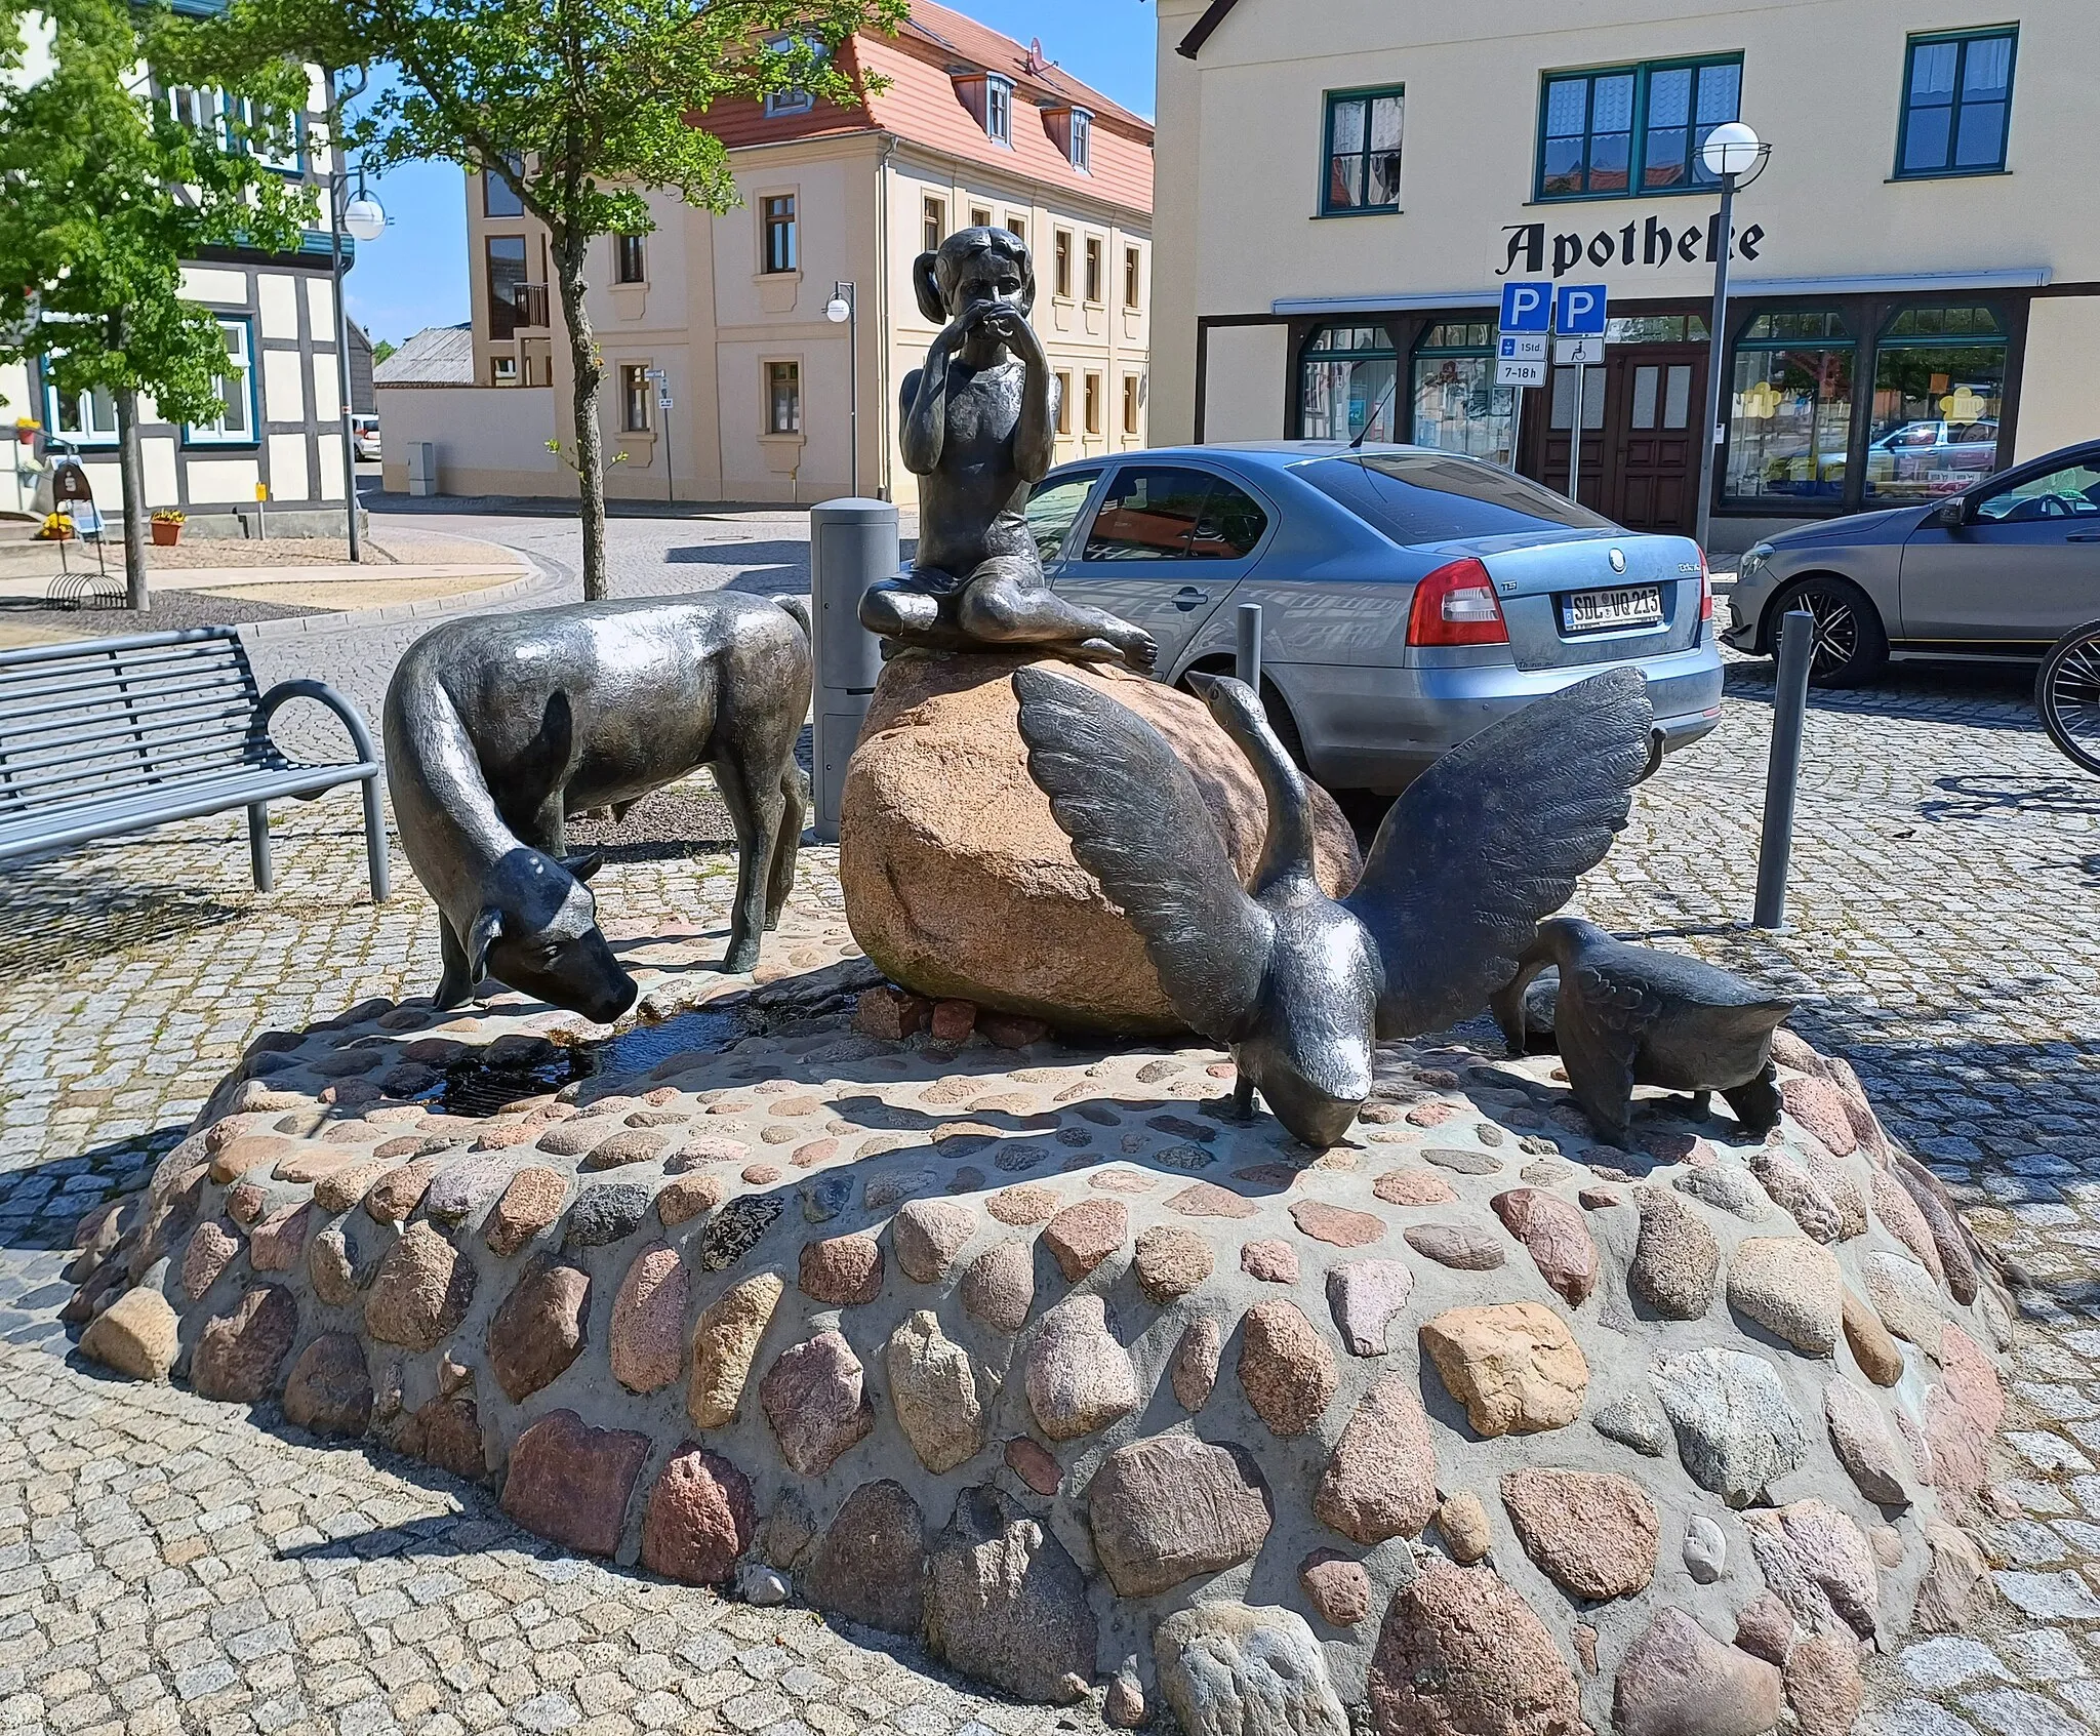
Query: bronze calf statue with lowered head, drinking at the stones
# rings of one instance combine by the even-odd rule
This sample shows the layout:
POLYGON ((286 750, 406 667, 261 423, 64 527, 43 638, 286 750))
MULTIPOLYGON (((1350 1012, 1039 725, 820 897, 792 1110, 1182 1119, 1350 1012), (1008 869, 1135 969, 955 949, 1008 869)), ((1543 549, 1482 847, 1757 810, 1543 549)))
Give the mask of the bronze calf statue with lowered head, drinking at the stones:
POLYGON ((724 970, 758 964, 794 886, 808 714, 798 598, 710 592, 475 615, 407 649, 386 689, 386 787, 401 848, 439 911, 454 1008, 483 976, 609 1024, 634 978, 565 856, 571 814, 710 766, 737 827, 724 970))

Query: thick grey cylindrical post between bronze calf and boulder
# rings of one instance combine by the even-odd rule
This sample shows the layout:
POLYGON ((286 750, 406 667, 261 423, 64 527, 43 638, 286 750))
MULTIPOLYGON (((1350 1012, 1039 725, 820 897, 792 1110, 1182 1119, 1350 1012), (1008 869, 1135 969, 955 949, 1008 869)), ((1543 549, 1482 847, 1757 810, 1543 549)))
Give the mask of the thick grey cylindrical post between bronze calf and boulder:
POLYGON ((882 674, 882 642, 861 626, 861 594, 897 571, 897 508, 890 502, 827 500, 808 510, 808 613, 817 636, 811 781, 817 838, 825 844, 838 842, 846 760, 882 674))

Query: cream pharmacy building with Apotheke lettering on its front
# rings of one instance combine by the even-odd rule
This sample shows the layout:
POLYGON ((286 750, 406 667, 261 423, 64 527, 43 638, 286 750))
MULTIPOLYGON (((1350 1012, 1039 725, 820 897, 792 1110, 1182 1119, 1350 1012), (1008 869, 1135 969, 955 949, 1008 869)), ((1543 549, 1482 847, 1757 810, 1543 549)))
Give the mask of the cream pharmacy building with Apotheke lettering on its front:
POLYGON ((1161 0, 1153 439, 1369 426, 1564 489, 1575 372, 1495 384, 1499 294, 1604 283, 1581 497, 1690 529, 1730 120, 1770 155, 1728 237, 1716 548, 2090 439, 2094 65, 2090 0, 1161 0))

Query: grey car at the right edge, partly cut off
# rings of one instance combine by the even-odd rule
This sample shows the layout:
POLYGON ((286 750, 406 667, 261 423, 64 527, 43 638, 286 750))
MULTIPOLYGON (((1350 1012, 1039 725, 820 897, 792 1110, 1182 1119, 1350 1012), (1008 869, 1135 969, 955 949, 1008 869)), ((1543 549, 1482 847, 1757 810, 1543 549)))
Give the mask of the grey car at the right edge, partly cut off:
POLYGON ((2100 615, 2100 441, 1913 506, 1804 525, 1743 556, 1724 638, 1770 655, 1816 621, 1810 680, 1858 686, 1890 657, 2033 661, 2100 615))

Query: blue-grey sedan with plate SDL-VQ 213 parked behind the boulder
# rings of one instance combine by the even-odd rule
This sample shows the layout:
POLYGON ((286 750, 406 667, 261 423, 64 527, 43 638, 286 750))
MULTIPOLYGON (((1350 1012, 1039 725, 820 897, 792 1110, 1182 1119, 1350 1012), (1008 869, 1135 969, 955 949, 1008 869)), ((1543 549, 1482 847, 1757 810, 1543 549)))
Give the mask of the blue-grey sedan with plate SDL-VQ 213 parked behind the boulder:
POLYGON ((1619 665, 1648 680, 1657 754, 1720 718, 1697 544, 1476 458, 1157 447, 1052 470, 1027 514, 1050 584, 1147 628, 1161 680, 1231 670, 1237 605, 1260 602, 1270 722, 1331 789, 1403 789, 1495 718, 1619 665))

